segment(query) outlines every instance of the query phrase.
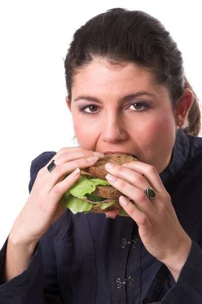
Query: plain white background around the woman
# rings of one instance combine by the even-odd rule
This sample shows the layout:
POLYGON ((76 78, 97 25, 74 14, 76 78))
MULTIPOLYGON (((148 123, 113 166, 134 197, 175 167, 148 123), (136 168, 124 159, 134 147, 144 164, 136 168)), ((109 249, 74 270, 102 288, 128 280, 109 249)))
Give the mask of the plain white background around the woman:
POLYGON ((28 199, 31 161, 73 145, 65 103, 63 58, 77 28, 120 7, 159 19, 183 53, 185 72, 201 92, 199 1, 0 0, 0 248, 28 199))

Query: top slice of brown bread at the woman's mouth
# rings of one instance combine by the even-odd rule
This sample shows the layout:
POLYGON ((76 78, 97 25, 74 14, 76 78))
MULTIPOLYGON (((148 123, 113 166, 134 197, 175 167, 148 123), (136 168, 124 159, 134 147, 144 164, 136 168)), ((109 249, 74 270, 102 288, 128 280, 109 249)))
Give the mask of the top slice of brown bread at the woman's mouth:
POLYGON ((133 156, 128 155, 128 154, 110 153, 110 154, 106 154, 105 157, 103 157, 99 161, 97 161, 94 166, 86 168, 85 171, 92 174, 96 178, 107 180, 106 175, 109 172, 107 172, 105 170, 106 163, 124 165, 126 163, 130 163, 133 161, 138 161, 138 159, 136 159, 133 156))

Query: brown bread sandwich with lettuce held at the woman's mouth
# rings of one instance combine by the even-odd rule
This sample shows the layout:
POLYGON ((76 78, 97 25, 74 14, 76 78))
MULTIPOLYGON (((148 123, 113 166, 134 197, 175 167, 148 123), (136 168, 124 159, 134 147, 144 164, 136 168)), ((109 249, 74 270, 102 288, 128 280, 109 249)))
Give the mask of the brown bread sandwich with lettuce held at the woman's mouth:
MULTIPOLYGON (((81 170, 80 177, 64 193, 60 203, 69 208, 73 214, 93 212, 105 213, 106 217, 112 218, 116 215, 128 216, 118 201, 120 196, 125 195, 108 183, 106 175, 109 172, 105 170, 105 164, 109 162, 123 165, 134 161, 138 159, 131 155, 106 154, 94 166, 81 170)), ((128 199, 139 209, 134 201, 128 199)))

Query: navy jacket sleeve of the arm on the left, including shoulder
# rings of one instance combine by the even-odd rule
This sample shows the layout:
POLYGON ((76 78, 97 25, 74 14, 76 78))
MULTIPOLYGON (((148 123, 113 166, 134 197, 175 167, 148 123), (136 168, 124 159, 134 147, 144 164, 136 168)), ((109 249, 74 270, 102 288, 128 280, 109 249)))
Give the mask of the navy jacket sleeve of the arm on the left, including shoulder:
MULTIPOLYGON (((44 152, 31 162, 29 193, 38 171, 56 153, 44 152)), ((9 237, 8 237, 9 238, 9 237)), ((8 238, 0 251, 0 277, 5 262, 8 238)), ((63 304, 57 280, 52 226, 38 241, 28 268, 0 286, 0 304, 63 304)))

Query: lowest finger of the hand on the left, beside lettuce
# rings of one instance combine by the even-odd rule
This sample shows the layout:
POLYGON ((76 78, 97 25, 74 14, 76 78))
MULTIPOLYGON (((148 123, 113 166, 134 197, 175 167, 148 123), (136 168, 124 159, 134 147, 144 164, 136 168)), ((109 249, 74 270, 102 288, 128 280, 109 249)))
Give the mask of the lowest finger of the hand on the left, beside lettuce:
POLYGON ((64 180, 57 183, 49 194, 51 204, 54 205, 56 202, 59 202, 63 194, 76 182, 79 176, 80 170, 79 168, 76 168, 64 180))

